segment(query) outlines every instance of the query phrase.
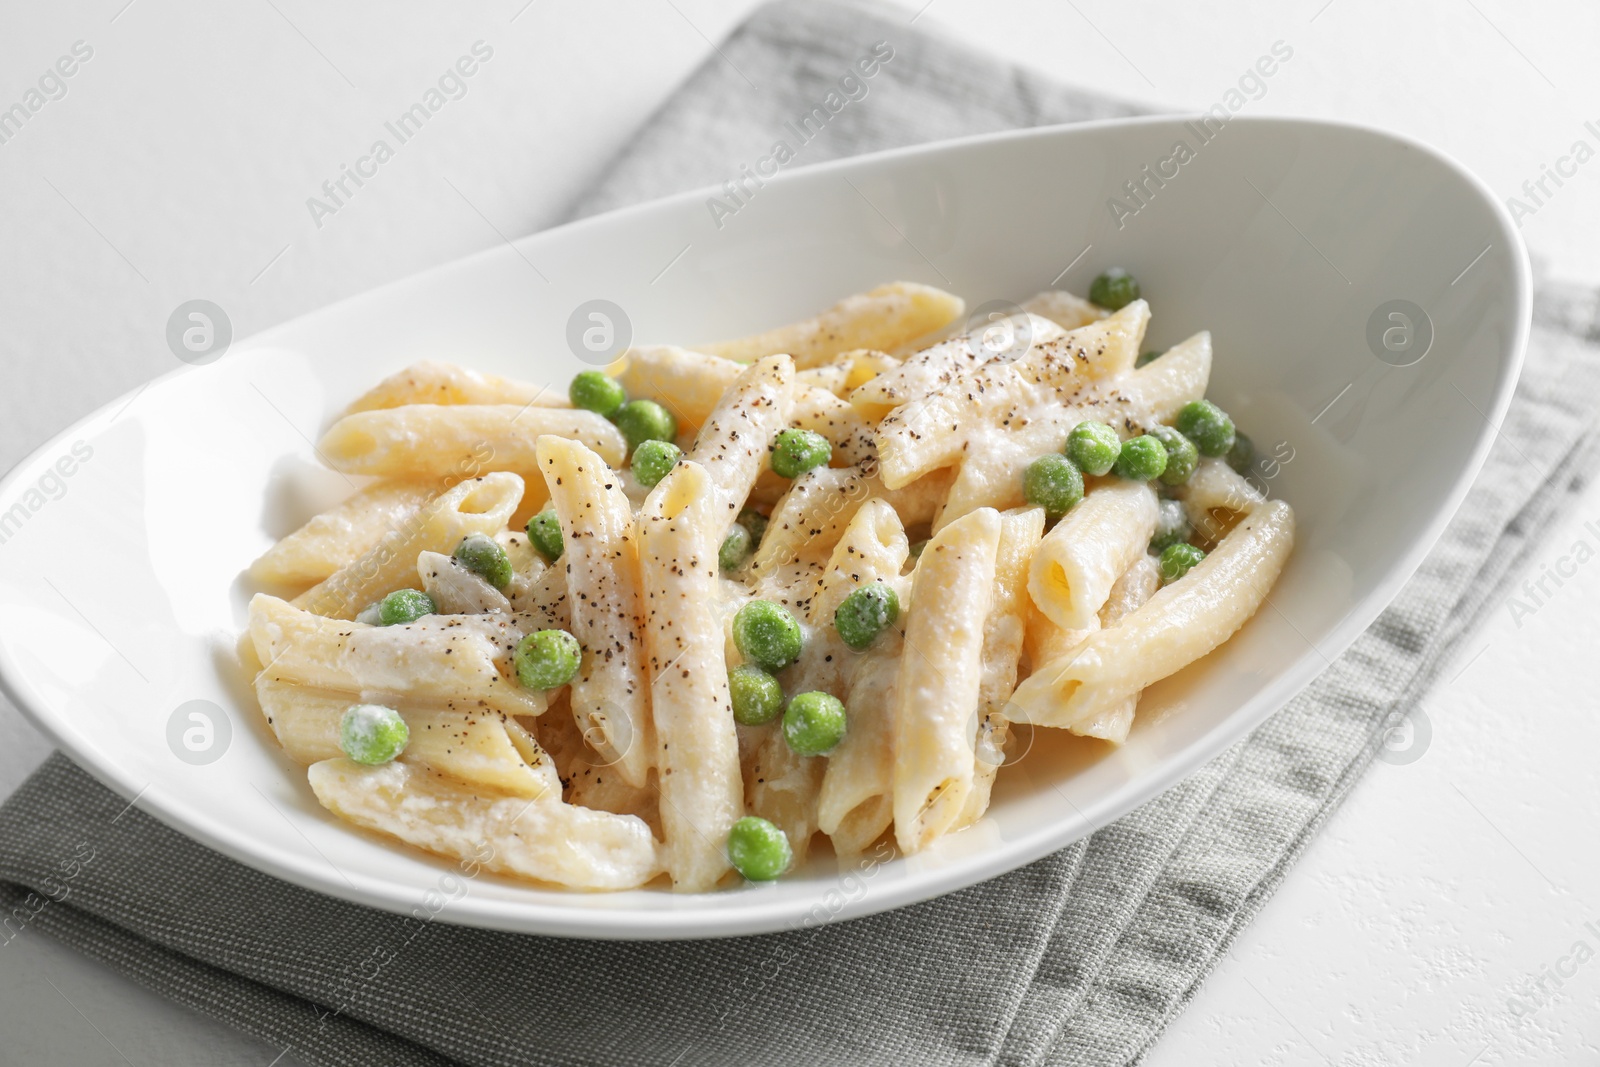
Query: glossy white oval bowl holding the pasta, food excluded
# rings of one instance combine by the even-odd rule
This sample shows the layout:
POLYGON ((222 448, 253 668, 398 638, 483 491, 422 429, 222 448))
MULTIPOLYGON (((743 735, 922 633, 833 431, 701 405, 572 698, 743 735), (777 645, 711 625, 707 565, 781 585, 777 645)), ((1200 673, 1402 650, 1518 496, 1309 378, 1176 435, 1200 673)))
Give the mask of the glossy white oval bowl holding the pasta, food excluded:
POLYGON ((1365 128, 1234 118, 1202 144, 1197 123, 1146 118, 974 138, 784 173, 720 227, 709 194, 344 301, 181 366, 40 448, 0 485, 6 693, 142 811, 362 904, 574 937, 714 937, 867 915, 1090 833, 1306 686, 1456 510, 1526 342, 1526 254, 1491 192, 1432 149, 1365 128), (1194 157, 1163 165, 1178 141, 1194 157), (1165 171, 1162 184, 1146 165, 1165 171), (1128 181, 1144 181, 1142 205, 1128 181), (1211 395, 1280 458, 1269 485, 1298 512, 1294 555, 1270 608, 1144 696, 1126 745, 1040 731, 1002 771, 989 816, 926 854, 842 872, 824 845, 782 881, 698 896, 462 880, 325 813, 234 669, 253 592, 240 571, 350 490, 310 442, 405 363, 442 357, 562 384, 584 366, 568 318, 595 298, 626 309, 640 342, 693 344, 893 278, 978 307, 1051 285, 1082 294, 1109 266, 1142 282, 1150 347, 1211 330, 1211 395), (1426 309, 1430 346, 1422 333, 1403 344, 1390 301, 1426 309), (1368 344, 1389 328, 1398 352, 1368 344), (194 707, 179 712, 190 701, 219 709, 210 763, 170 742, 194 726, 194 707))

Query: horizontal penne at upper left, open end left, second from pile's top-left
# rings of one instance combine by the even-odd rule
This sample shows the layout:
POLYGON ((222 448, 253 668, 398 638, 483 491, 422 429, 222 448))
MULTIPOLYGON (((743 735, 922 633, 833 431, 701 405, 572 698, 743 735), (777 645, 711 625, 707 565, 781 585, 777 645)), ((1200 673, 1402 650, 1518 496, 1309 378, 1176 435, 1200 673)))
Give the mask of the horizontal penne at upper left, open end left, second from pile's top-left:
POLYGON ((467 464, 538 469, 534 442, 560 435, 616 466, 627 458, 622 432, 594 411, 526 405, 429 405, 347 414, 323 434, 318 454, 344 474, 448 478, 467 464))

